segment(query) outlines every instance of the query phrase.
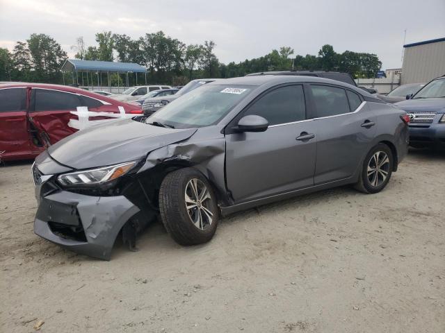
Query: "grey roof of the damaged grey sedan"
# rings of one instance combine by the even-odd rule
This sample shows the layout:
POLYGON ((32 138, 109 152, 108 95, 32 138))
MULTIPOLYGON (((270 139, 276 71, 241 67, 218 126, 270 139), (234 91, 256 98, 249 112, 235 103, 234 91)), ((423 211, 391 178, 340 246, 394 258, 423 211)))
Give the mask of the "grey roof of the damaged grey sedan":
POLYGON ((330 78, 319 78, 317 76, 298 76, 298 75, 259 75, 259 76, 241 76, 239 78, 225 78, 216 82, 207 83, 208 85, 280 85, 281 83, 327 83, 330 85, 337 85, 348 89, 353 89, 359 94, 371 96, 369 92, 365 92, 359 87, 343 83, 342 81, 331 80, 330 78))

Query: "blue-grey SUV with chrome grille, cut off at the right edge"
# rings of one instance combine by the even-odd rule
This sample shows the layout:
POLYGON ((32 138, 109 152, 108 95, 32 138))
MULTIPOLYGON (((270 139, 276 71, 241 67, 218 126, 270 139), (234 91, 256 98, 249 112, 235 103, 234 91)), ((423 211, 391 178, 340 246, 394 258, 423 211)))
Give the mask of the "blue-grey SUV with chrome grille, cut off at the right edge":
POLYGON ((410 117, 410 146, 445 148, 445 76, 407 97, 394 105, 410 117))

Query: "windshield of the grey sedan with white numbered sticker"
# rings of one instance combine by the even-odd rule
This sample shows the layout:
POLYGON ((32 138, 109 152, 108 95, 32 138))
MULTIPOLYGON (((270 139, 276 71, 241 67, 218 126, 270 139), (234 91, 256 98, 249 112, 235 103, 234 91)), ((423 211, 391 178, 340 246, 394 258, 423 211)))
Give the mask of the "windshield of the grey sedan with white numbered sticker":
POLYGON ((251 86, 206 85, 172 101, 145 122, 174 128, 214 125, 250 92, 251 86))

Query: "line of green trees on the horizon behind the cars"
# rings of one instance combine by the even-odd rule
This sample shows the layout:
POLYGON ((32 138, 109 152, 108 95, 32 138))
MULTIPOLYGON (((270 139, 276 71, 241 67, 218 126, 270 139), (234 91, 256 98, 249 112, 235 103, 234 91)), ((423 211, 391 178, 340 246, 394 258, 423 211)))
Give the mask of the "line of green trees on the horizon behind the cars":
MULTIPOLYGON (((316 56, 293 56, 295 52, 291 47, 282 46, 265 56, 225 65, 216 57, 216 44, 212 40, 186 45, 163 31, 146 33, 138 39, 104 31, 97 33, 95 40, 96 45, 86 46, 83 37, 76 38, 76 45, 71 48, 76 51, 75 58, 104 61, 116 58, 121 62, 135 62, 147 67, 147 83, 184 85, 193 78, 231 78, 289 69, 343 71, 355 78, 366 78, 374 77, 382 65, 375 54, 336 53, 329 44, 323 45, 316 56)), ((61 83, 60 67, 66 57, 53 38, 33 34, 26 42, 17 42, 12 53, 0 49, 0 80, 61 83)), ((118 85, 118 74, 112 74, 110 78, 112 85, 118 85)), ((71 74, 65 74, 65 79, 71 82, 71 74)), ((145 77, 139 75, 138 83, 143 82, 145 77)), ((126 83, 127 76, 121 74, 119 85, 126 83)), ((129 74, 129 84, 136 84, 136 74, 129 74)))

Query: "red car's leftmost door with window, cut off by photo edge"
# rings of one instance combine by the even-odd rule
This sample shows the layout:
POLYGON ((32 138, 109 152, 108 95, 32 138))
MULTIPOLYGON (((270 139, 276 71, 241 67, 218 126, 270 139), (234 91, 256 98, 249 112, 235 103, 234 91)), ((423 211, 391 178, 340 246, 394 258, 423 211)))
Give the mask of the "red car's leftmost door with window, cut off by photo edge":
POLYGON ((30 140, 31 136, 26 121, 26 88, 0 89, 1 156, 26 157, 26 155, 30 155, 30 140))

